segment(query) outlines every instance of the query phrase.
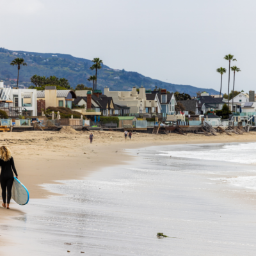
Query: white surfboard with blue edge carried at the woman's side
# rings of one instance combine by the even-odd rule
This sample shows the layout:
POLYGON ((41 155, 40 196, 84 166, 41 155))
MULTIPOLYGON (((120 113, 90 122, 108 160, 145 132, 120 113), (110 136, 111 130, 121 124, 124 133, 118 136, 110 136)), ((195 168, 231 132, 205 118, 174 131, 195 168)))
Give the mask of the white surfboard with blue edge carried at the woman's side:
POLYGON ((12 199, 19 205, 28 204, 29 201, 28 189, 15 177, 12 186, 12 199))

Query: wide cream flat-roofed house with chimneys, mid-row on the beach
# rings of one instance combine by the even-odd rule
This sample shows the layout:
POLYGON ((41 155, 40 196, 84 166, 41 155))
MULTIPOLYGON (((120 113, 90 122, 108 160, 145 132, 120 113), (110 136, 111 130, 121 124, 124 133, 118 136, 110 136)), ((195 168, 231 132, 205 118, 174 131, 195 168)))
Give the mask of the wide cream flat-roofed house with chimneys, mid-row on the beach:
MULTIPOLYGON (((118 106, 125 106, 129 108, 129 113, 161 113, 161 104, 156 95, 147 96, 146 90, 143 86, 137 92, 136 87, 133 87, 131 91, 109 91, 109 88, 104 88, 104 95, 112 97, 113 102, 118 106)), ((124 109, 125 111, 125 109, 124 109)))

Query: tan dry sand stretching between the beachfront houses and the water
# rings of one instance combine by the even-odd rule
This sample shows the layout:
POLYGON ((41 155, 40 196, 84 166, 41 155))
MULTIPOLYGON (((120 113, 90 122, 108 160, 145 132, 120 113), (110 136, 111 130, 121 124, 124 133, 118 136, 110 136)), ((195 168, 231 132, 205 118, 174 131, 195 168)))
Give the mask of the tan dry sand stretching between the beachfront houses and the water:
MULTIPOLYGON (((132 134, 132 140, 125 140, 123 132, 93 131, 93 144, 90 144, 89 134, 90 132, 74 131, 70 127, 60 132, 1 132, 0 142, 11 148, 19 179, 28 188, 31 198, 45 198, 52 193, 39 186, 40 184, 54 183, 54 180, 84 179, 99 168, 129 161, 132 156, 125 154, 125 148, 256 141, 256 132, 232 136, 184 136, 173 133, 153 135, 137 132, 132 134)), ((11 204, 11 208, 6 210, 0 207, 1 217, 21 213, 15 210, 15 204, 11 204)))

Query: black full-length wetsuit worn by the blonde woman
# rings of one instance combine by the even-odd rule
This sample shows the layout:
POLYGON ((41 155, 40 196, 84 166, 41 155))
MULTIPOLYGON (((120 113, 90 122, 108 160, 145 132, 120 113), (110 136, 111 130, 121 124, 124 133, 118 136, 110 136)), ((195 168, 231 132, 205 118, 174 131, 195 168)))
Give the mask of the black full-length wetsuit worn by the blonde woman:
POLYGON ((10 200, 12 197, 12 184, 13 184, 13 172, 17 176, 17 171, 14 165, 13 157, 11 157, 8 161, 4 162, 3 159, 0 159, 1 166, 1 175, 0 175, 0 183, 2 188, 2 198, 4 204, 6 204, 6 188, 7 188, 7 204, 10 204, 10 200))

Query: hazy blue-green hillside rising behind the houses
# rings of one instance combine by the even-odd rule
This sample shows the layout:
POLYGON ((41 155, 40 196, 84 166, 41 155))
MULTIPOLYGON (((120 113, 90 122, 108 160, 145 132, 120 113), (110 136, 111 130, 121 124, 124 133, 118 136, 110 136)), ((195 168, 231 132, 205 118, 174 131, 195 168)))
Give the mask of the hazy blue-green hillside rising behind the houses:
MULTIPOLYGON (((14 58, 24 58, 28 64, 27 67, 20 69, 19 84, 24 84, 24 86, 32 85, 30 83, 30 77, 36 74, 45 77, 64 77, 68 79, 73 88, 81 83, 92 87, 92 83, 87 81, 89 76, 95 74, 93 70, 90 70, 92 66, 92 61, 90 60, 76 58, 68 54, 11 51, 0 48, 0 79, 4 80, 4 84, 14 85, 15 80, 12 79, 17 79, 17 67, 10 65, 10 62, 14 58)), ((114 70, 113 68, 103 65, 98 73, 97 88, 102 89, 106 86, 111 90, 131 90, 133 86, 144 86, 147 89, 154 89, 155 86, 157 86, 166 88, 170 92, 184 92, 191 96, 195 96, 198 91, 218 94, 218 92, 213 89, 164 83, 157 79, 145 77, 137 72, 114 70)))

